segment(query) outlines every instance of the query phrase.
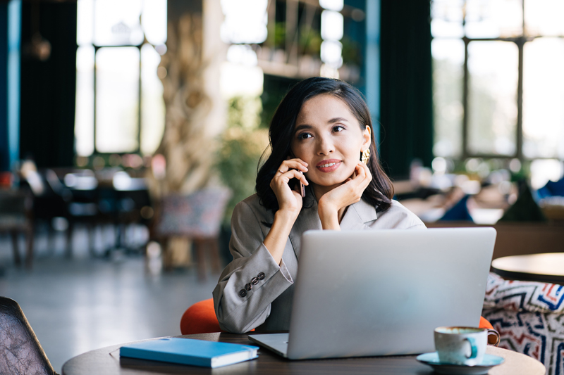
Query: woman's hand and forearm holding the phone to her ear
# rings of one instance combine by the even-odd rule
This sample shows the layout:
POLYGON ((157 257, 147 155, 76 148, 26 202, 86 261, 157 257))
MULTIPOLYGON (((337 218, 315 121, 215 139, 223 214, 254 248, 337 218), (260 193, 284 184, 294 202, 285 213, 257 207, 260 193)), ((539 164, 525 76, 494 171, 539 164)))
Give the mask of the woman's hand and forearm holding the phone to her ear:
POLYGON ((278 211, 274 214, 274 222, 263 243, 278 265, 282 261, 290 230, 302 209, 302 194, 290 189, 288 182, 290 179, 299 179, 302 184, 309 185, 303 172, 307 172, 305 161, 284 160, 270 182, 270 187, 278 200, 278 211))

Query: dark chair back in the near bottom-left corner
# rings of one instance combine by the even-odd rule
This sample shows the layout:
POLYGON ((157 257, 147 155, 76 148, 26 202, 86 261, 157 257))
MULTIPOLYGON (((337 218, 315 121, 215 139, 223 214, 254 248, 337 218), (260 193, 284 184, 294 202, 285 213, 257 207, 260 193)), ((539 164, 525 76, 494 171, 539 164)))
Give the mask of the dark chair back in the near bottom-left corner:
POLYGON ((0 374, 57 374, 20 305, 6 297, 0 297, 0 345, 0 374))

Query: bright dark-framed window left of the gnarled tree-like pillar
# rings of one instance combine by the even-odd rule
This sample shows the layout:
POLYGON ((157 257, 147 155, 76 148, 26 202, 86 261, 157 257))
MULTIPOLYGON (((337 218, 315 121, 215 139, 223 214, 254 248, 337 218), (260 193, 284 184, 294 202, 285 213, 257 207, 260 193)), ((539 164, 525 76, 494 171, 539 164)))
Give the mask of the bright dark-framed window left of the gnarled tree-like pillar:
POLYGON ((166 0, 78 0, 78 155, 151 154, 159 146, 165 42, 166 0))

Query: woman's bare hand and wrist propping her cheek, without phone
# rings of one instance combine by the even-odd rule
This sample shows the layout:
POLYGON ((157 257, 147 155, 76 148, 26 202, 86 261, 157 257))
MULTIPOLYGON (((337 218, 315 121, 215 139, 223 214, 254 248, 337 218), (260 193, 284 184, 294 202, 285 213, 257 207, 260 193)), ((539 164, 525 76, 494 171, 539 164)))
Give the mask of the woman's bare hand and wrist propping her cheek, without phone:
POLYGON ((372 174, 367 165, 358 162, 355 173, 341 186, 324 193, 317 203, 317 212, 323 229, 341 229, 339 222, 345 208, 360 201, 362 193, 372 181, 372 174))

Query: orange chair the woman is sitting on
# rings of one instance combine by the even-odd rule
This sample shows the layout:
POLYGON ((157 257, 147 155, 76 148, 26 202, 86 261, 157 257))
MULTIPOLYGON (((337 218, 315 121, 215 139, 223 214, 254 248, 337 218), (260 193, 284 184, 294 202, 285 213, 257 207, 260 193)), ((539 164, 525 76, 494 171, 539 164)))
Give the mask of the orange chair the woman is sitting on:
MULTIPOLYGON (((484 317, 480 317, 480 328, 494 329, 484 317)), ((253 329, 253 331, 255 331, 253 329)), ((180 332, 183 335, 193 335, 196 333, 225 332, 219 328, 216 311, 214 310, 214 299, 203 300, 188 307, 188 310, 180 319, 180 332)))

